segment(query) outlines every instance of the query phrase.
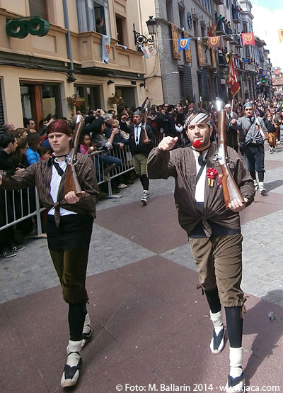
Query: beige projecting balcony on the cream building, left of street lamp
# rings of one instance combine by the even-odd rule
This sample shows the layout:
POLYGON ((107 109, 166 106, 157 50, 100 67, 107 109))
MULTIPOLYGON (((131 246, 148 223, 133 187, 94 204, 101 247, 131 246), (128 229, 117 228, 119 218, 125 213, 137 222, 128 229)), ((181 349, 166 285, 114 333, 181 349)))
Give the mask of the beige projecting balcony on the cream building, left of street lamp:
POLYGON ((120 72, 132 72, 144 74, 141 57, 143 53, 127 48, 126 50, 117 45, 118 41, 111 38, 108 64, 103 64, 102 35, 94 31, 79 33, 72 37, 74 61, 81 62, 82 70, 96 68, 101 70, 115 70, 120 72))

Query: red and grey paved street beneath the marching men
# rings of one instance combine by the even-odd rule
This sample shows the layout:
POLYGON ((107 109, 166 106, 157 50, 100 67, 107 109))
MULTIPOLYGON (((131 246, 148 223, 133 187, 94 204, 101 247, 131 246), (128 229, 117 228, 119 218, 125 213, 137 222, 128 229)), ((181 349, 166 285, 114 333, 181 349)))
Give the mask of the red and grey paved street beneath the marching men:
MULTIPOLYGON (((266 153, 267 195, 257 194, 241 215, 243 289, 249 294, 243 347, 246 384, 282 392, 283 148, 278 150, 266 153), (277 320, 268 319, 270 311, 277 320)), ((195 289, 197 272, 178 225, 173 187, 172 179, 151 181, 145 207, 139 182, 123 189, 121 199, 98 204, 87 278, 95 336, 83 350, 79 384, 66 391, 160 392, 166 384, 163 391, 174 392, 170 384, 175 391, 186 384, 190 391, 217 392, 226 384, 229 345, 220 355, 210 353, 209 310, 195 289), (126 390, 125 384, 138 386, 126 390)), ((46 240, 1 260, 0 273, 1 392, 63 392, 67 304, 46 240)))

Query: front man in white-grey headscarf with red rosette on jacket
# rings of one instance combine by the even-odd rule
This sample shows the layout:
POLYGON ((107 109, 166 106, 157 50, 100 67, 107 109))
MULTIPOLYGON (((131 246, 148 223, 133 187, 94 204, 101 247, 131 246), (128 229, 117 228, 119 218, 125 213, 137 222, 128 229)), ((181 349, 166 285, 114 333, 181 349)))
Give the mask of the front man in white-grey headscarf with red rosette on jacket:
POLYGON ((230 170, 244 197, 233 199, 225 208, 221 187, 221 166, 214 161, 218 152, 211 143, 212 126, 207 112, 189 111, 185 131, 192 146, 171 150, 178 138, 167 136, 151 150, 147 164, 149 178, 175 178, 175 204, 180 226, 185 229, 199 270, 199 287, 205 293, 214 326, 210 350, 224 348, 224 306, 230 342, 230 370, 227 392, 242 392, 243 309, 241 289, 242 235, 239 211, 253 202, 255 187, 235 150, 227 148, 230 170), (170 151, 171 150, 171 151, 170 151))

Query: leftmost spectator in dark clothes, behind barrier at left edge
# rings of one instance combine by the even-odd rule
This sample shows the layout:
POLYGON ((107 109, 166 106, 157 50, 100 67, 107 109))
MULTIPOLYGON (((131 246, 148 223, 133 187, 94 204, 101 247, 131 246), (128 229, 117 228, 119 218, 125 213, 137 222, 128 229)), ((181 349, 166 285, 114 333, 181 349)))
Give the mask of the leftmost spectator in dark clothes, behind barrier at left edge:
MULTIPOLYGON (((20 174, 24 169, 16 167, 13 153, 18 146, 13 135, 4 134, 0 137, 0 170, 8 175, 20 174)), ((13 212, 13 196, 11 192, 0 191, 0 227, 15 221, 13 212), (7 206, 7 209, 6 209, 7 206)), ((0 256, 2 258, 15 257, 17 251, 24 249, 23 245, 15 244, 13 226, 0 231, 0 256)))

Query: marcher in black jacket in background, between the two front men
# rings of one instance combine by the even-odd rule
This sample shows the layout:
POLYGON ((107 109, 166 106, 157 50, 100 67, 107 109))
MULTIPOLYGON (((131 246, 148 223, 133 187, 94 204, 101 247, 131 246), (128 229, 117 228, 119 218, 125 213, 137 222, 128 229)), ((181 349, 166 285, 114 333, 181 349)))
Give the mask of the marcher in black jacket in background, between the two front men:
POLYGON ((125 116, 122 116, 120 128, 122 131, 129 133, 129 151, 134 159, 134 171, 139 175, 144 190, 141 196, 141 203, 145 206, 147 199, 149 199, 149 178, 146 175, 146 162, 151 149, 154 148, 154 133, 149 124, 145 125, 146 133, 144 132, 143 120, 142 112, 135 111, 133 124, 128 127, 125 116))

